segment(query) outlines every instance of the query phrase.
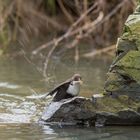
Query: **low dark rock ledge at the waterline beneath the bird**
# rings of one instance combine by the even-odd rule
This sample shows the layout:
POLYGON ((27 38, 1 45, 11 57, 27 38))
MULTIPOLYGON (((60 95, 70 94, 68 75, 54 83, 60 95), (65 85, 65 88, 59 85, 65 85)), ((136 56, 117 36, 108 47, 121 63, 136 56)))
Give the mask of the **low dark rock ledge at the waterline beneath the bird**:
POLYGON ((75 97, 51 102, 40 121, 61 125, 140 125, 140 103, 127 97, 102 97, 93 102, 89 98, 75 97))

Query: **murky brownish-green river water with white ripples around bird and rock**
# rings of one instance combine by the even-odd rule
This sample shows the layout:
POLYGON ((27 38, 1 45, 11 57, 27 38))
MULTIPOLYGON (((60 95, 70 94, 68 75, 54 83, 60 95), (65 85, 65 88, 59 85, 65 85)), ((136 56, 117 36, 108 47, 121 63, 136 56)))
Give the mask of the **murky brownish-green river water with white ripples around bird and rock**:
POLYGON ((0 57, 0 140, 138 140, 140 127, 64 127, 38 124, 47 103, 45 93, 74 73, 84 84, 80 95, 90 97, 103 90, 109 59, 53 59, 48 80, 24 58, 0 57))

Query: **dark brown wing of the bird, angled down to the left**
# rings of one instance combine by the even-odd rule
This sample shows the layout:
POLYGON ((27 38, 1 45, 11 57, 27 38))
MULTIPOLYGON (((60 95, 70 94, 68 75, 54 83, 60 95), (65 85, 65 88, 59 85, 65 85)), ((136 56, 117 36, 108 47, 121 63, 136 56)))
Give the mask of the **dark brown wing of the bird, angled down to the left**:
POLYGON ((70 83, 71 83, 71 80, 67 80, 64 83, 61 83, 60 85, 58 85, 57 87, 55 87, 52 91, 50 91, 46 96, 48 96, 48 95, 51 95, 52 96, 56 92, 59 93, 60 90, 62 90, 62 89, 63 89, 63 91, 64 90, 67 90, 70 83))

